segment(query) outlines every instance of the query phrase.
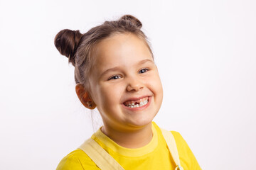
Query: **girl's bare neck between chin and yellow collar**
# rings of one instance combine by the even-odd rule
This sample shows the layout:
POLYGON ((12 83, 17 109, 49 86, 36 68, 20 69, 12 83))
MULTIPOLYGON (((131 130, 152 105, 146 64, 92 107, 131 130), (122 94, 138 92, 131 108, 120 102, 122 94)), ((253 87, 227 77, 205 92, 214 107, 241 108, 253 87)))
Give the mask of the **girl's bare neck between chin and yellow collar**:
POLYGON ((103 126, 101 130, 118 145, 127 148, 144 147, 149 144, 153 137, 151 123, 145 125, 143 128, 137 128, 136 130, 117 131, 107 126, 103 126))

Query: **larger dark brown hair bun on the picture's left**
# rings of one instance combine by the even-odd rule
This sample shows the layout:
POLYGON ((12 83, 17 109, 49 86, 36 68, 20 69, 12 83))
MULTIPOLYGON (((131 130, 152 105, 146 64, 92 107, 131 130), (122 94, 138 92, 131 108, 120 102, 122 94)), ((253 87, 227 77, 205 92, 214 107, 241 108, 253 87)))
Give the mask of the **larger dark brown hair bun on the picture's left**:
POLYGON ((79 30, 60 30, 55 36, 54 45, 61 55, 68 57, 68 62, 75 66, 75 51, 77 50, 78 43, 82 38, 79 30))

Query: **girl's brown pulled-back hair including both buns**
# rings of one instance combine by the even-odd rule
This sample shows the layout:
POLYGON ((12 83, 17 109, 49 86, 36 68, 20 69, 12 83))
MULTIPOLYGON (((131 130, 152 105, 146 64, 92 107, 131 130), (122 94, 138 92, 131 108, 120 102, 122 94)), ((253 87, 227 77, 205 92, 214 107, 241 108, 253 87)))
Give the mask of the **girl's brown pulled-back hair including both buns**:
POLYGON ((71 62, 75 67, 76 84, 80 83, 86 86, 90 70, 95 61, 93 60, 95 46, 111 35, 118 33, 137 35, 144 41, 153 57, 149 41, 141 28, 142 23, 137 18, 131 15, 124 15, 117 21, 105 21, 102 25, 91 28, 85 34, 81 34, 79 30, 60 30, 55 36, 54 44, 60 54, 68 57, 68 62, 71 62))

